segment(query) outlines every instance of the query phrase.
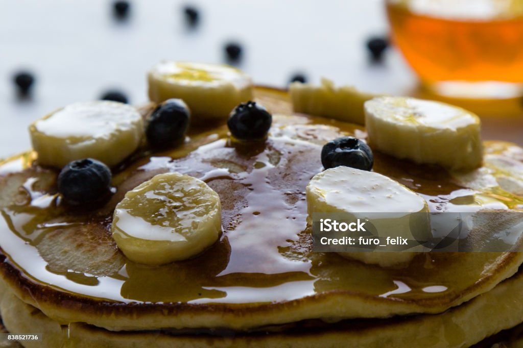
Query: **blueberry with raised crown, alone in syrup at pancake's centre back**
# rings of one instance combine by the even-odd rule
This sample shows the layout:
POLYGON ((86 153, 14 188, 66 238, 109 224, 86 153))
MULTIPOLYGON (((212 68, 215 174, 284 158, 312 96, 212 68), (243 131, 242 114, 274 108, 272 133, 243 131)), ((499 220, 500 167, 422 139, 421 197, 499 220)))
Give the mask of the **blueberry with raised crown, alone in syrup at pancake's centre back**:
POLYGON ((241 103, 229 114, 227 125, 238 140, 262 140, 267 136, 272 115, 254 101, 241 103))

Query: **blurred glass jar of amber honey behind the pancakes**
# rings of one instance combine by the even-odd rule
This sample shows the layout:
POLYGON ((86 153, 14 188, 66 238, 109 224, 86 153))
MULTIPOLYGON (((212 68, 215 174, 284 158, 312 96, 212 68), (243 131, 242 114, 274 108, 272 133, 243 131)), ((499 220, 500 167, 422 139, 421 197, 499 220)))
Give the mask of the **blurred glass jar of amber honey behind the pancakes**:
POLYGON ((439 94, 523 92, 523 0, 388 0, 392 39, 439 94))

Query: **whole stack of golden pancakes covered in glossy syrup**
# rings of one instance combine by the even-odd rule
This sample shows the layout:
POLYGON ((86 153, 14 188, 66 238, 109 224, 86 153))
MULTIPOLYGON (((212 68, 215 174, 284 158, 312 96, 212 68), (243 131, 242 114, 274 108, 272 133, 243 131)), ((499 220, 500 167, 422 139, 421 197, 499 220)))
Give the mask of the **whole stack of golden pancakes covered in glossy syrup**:
MULTIPOLYGON (((58 171, 28 152, 0 165, 0 314, 28 347, 471 346, 523 322, 519 252, 419 253, 403 268, 312 251, 305 187, 333 138, 363 126, 292 112, 285 91, 256 88, 272 112, 259 146, 223 124, 193 127, 164 152, 138 150, 102 206, 58 199, 58 171), (198 256, 161 266, 128 260, 111 238, 123 195, 176 171, 220 196, 223 233, 198 256)), ((144 108, 147 113, 150 108, 144 108)), ((485 142, 483 167, 450 174, 374 153, 374 171, 422 195, 431 211, 508 207, 518 192, 484 188, 482 173, 521 180, 523 149, 485 142), (496 167, 496 168, 497 168, 496 167)), ((493 231, 495 233, 495 231, 493 231)))

